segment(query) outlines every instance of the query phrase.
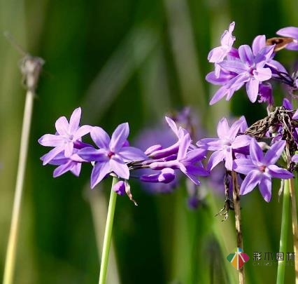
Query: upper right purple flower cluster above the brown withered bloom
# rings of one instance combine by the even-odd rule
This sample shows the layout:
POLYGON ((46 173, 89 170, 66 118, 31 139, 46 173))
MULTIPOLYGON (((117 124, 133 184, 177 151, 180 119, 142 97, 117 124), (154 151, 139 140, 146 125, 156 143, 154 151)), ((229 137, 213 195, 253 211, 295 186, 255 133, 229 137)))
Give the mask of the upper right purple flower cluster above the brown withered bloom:
MULTIPOLYGON (((209 62, 215 64, 215 70, 207 74, 206 80, 220 86, 210 104, 215 104, 223 97, 230 100, 236 90, 245 86, 250 102, 256 102, 259 98, 260 102, 267 102, 271 106, 274 100, 270 80, 281 81, 296 90, 295 76, 290 76, 285 67, 274 60, 279 49, 275 44, 277 41, 266 40, 266 36, 260 35, 254 39, 251 47, 242 45, 234 48, 234 26, 232 22, 229 30, 222 34, 221 45, 213 48, 208 55, 209 62)), ((282 36, 290 36, 283 47, 298 50, 297 31, 297 27, 286 27, 277 32, 282 36)))

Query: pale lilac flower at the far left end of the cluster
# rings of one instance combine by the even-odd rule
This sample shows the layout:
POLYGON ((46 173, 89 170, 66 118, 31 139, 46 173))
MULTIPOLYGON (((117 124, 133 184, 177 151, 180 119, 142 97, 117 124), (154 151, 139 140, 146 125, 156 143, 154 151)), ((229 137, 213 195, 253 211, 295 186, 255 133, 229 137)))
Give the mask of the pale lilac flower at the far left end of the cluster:
POLYGON ((55 147, 48 154, 43 156, 43 165, 49 163, 59 153, 64 152, 64 156, 69 158, 73 154, 73 148, 85 147, 81 142, 81 137, 90 133, 91 126, 80 125, 81 109, 78 107, 71 114, 71 119, 67 121, 65 116, 57 119, 55 135, 45 134, 38 139, 38 143, 46 147, 55 147))

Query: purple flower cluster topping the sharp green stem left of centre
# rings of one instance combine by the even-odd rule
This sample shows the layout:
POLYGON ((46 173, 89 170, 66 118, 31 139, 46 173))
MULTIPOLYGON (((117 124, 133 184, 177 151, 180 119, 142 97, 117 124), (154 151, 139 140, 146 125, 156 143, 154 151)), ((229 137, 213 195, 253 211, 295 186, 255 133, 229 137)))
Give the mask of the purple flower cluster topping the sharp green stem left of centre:
POLYGON ((56 133, 43 135, 38 142, 45 147, 53 147, 48 154, 41 157, 43 165, 58 165, 54 177, 68 171, 80 175, 82 163, 91 163, 91 188, 109 175, 120 179, 115 191, 123 194, 128 187, 127 180, 134 170, 144 170, 141 175, 134 175, 142 182, 169 184, 176 179, 178 172, 199 185, 198 176, 208 175, 201 161, 206 158, 206 150, 192 144, 190 133, 185 128, 166 117, 169 129, 176 139, 168 147, 154 144, 146 151, 129 146, 129 124, 120 124, 111 137, 98 126, 80 126, 81 109, 75 109, 68 121, 62 116, 55 123, 56 133), (82 141, 84 135, 90 134, 92 144, 82 141), (146 170, 150 173, 146 173, 146 170), (125 182, 121 182, 125 181, 125 182))

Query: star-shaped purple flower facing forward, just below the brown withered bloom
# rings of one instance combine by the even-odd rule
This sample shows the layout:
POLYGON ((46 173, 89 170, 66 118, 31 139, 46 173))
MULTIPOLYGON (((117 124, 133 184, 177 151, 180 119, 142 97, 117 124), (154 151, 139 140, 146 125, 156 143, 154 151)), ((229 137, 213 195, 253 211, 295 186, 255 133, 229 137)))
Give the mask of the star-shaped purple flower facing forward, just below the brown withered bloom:
POLYGON ((266 154, 256 140, 250 142, 250 158, 238 158, 234 161, 234 170, 246 175, 240 188, 240 194, 248 194, 257 185, 265 201, 271 199, 271 178, 290 179, 292 173, 275 165, 285 148, 285 141, 276 142, 266 154))

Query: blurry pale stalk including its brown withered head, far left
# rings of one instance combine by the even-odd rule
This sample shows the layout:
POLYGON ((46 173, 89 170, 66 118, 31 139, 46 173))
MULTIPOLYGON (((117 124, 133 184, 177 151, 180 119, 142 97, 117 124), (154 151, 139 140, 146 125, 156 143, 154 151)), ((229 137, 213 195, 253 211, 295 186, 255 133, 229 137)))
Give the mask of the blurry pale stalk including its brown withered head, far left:
POLYGON ((21 72, 24 75, 27 86, 26 102, 24 106, 24 116, 22 123, 22 135, 20 142, 19 163, 17 166, 17 180, 15 184, 15 198, 13 201, 13 212, 11 217, 10 232, 8 236, 8 245, 6 251, 6 262, 4 266, 3 284, 13 283, 13 273, 15 271, 15 255, 17 250, 17 235, 20 224, 20 208, 22 203, 22 194, 24 187, 24 173, 26 170, 29 133, 31 126, 31 116, 35 89, 43 60, 26 55, 23 58, 21 72))

